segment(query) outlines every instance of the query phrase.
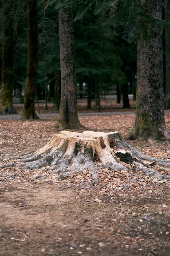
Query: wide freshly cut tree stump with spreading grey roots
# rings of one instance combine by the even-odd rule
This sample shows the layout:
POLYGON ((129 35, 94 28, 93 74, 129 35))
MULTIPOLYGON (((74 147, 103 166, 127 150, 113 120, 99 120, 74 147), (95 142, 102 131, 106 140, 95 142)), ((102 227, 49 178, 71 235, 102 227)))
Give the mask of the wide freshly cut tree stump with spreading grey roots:
POLYGON ((33 170, 45 166, 58 174, 58 180, 64 180, 73 173, 88 170, 92 173, 93 183, 98 183, 97 163, 99 162, 103 168, 113 172, 131 169, 156 176, 158 180, 170 178, 167 175, 161 175, 153 168, 157 164, 166 166, 166 161, 135 150, 119 132, 78 133, 65 130, 54 134, 48 144, 31 155, 27 154, 21 161, 24 169, 33 170))

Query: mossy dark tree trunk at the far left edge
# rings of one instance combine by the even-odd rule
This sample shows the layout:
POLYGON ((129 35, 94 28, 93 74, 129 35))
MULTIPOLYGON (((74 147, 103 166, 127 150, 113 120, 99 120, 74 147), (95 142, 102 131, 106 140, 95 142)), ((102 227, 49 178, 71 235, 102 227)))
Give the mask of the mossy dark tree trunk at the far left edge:
POLYGON ((0 96, 0 114, 15 114, 13 108, 13 54, 16 34, 13 28, 15 2, 3 0, 2 25, 2 90, 0 96))

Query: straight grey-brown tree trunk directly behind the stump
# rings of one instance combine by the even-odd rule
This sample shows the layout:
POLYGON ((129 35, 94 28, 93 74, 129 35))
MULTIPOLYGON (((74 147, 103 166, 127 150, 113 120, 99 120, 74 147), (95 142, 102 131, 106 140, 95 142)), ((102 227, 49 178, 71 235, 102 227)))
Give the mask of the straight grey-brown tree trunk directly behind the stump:
POLYGON ((77 85, 71 9, 59 9, 61 104, 56 128, 79 128, 77 114, 77 85))

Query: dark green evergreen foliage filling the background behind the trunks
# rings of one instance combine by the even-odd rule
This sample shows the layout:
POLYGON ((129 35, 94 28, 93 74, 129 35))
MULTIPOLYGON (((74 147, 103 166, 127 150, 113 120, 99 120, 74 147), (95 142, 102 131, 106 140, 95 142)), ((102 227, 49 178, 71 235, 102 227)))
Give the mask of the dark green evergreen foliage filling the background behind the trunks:
MULTIPOLYGON (((13 2, 6 1, 6 4, 13 2)), ((14 89, 17 95, 24 90, 27 65, 27 13, 26 0, 16 0, 13 33, 16 37, 14 55, 14 89), (18 26, 19 24, 19 26, 18 26), (18 28, 18 29, 17 29, 18 28)), ((101 90, 109 91, 113 84, 130 84, 136 73, 136 43, 138 33, 144 29, 144 20, 154 23, 162 30, 170 25, 167 20, 150 17, 139 0, 38 0, 39 65, 37 95, 44 97, 47 85, 53 95, 55 74, 60 70, 58 36, 58 9, 72 8, 74 19, 74 40, 77 83, 92 81, 101 84, 101 90), (140 17, 137 22, 137 16, 140 17)), ((0 0, 0 15, 4 9, 0 0)), ((12 9, 9 16, 12 15, 12 9)), ((2 31, 0 19, 0 31, 2 31)), ((5 22, 8 25, 8 20, 5 22)), ((0 44, 3 34, 0 33, 0 44)), ((1 47, 0 47, 1 48, 1 47)), ((1 49, 0 49, 1 50, 1 49)), ((2 55, 2 54, 0 54, 2 55)), ((1 56, 0 56, 1 63, 1 56)), ((0 64, 1 68, 1 64, 0 64)), ((79 88, 80 88, 79 87, 79 88)), ((132 92, 132 89, 129 88, 132 92)))

